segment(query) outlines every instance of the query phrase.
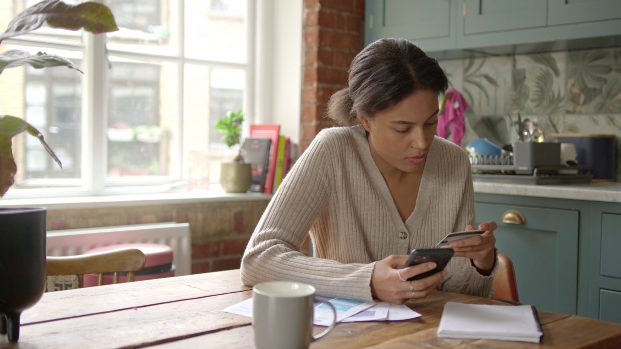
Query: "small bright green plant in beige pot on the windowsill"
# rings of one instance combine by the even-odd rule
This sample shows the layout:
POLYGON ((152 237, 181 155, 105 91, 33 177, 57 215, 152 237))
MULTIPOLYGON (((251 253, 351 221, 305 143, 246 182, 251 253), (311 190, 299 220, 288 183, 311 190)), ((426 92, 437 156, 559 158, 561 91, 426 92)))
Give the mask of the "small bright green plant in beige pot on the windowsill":
MULTIPOLYGON (((215 129, 222 133, 222 143, 229 148, 242 143, 243 112, 229 111, 227 116, 215 123, 215 129)), ((249 163, 244 163, 240 146, 232 162, 220 165, 220 185, 226 193, 246 193, 252 184, 252 171, 249 163)))

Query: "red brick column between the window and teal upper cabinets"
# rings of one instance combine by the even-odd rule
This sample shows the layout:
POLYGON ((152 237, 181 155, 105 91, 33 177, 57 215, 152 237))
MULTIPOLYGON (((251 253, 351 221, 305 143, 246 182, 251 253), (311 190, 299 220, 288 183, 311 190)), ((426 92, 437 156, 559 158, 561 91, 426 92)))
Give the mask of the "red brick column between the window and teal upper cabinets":
POLYGON ((364 40, 365 0, 304 0, 301 150, 335 125, 324 116, 332 93, 347 84, 347 70, 364 40))

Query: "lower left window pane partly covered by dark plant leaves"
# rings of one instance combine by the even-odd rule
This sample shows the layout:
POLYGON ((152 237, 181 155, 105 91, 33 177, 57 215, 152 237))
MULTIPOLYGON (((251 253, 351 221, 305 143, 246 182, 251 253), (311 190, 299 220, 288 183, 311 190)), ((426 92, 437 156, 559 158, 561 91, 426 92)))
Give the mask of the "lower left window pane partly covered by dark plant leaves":
MULTIPOLYGON (((81 52, 2 45, 0 50, 39 50, 70 58, 81 65, 81 52)), ((81 185, 82 75, 64 66, 35 69, 21 66, 2 72, 0 112, 34 125, 63 163, 61 169, 37 138, 25 132, 13 138, 19 188, 81 185), (69 180, 68 180, 69 179, 69 180), (73 180, 71 180, 73 179, 73 180)))

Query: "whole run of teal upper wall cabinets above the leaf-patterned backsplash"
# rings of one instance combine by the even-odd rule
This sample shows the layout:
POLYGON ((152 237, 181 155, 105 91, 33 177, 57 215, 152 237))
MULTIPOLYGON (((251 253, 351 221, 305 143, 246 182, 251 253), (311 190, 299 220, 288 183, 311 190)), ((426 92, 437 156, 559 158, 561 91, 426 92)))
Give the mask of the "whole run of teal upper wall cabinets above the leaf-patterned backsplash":
POLYGON ((438 59, 621 45, 619 0, 366 0, 365 43, 401 37, 438 59))

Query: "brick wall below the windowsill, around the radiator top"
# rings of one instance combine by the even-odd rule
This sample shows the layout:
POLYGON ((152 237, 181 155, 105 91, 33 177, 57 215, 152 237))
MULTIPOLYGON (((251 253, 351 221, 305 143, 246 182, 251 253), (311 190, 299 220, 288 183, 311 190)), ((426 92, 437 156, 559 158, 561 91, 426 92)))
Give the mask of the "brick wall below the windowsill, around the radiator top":
MULTIPOLYGON (((237 269, 243 251, 265 211, 265 201, 66 209, 47 212, 47 229, 81 229, 156 222, 189 223, 192 273, 237 269)), ((308 255, 309 243, 302 247, 308 255)))

